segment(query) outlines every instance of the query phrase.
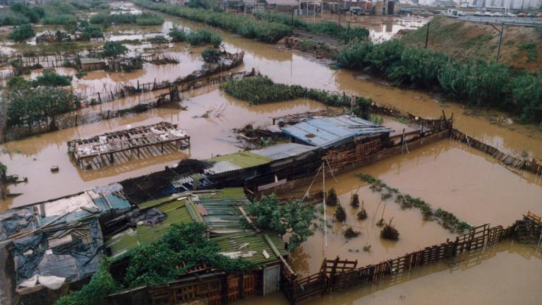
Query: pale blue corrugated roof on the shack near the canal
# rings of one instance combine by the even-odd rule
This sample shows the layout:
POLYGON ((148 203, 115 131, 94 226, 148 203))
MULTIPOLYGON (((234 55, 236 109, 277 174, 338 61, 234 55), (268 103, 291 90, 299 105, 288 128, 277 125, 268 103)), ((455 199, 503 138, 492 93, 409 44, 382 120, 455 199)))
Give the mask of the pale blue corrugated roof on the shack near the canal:
POLYGON ((357 116, 330 116, 309 119, 282 128, 282 132, 309 145, 329 148, 356 136, 370 136, 375 133, 390 133, 393 130, 357 116))

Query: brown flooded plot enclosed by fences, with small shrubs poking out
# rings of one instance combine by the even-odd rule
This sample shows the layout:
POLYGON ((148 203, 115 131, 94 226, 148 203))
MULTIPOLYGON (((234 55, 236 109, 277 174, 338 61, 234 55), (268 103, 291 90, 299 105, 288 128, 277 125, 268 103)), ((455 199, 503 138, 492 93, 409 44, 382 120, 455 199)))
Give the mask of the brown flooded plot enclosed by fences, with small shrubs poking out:
MULTIPOLYGON (((358 260, 360 265, 378 263, 383 258, 402 256, 458 235, 448 232, 438 222, 424 221, 416 208, 402 210, 393 198, 382 201, 381 193, 369 189, 370 185, 355 176, 357 173, 378 177, 399 192, 421 198, 433 208, 447 210, 473 226, 490 223, 507 227, 527 210, 540 209, 541 177, 518 177, 481 152, 441 140, 408 154, 338 175, 336 181, 326 179, 327 191, 335 188, 342 207, 347 211, 346 225, 332 222, 335 208, 328 207, 327 220, 332 227, 327 232, 327 247, 323 229, 318 229, 317 234, 292 255, 297 272, 307 275, 318 272, 323 258, 336 256, 358 260), (351 194, 356 191, 360 202, 365 204, 366 220, 357 220, 360 208, 350 206, 351 194), (398 241, 380 239, 381 228, 376 225, 380 218, 385 222, 393 218, 392 223, 400 234, 398 241), (352 239, 343 237, 342 232, 349 225, 361 235, 352 239), (366 245, 371 245, 371 251, 363 251, 366 245)), ((311 191, 321 189, 322 184, 316 184, 311 191)), ((306 187, 297 191, 303 194, 306 187)), ((323 224, 322 220, 320 224, 323 224)))

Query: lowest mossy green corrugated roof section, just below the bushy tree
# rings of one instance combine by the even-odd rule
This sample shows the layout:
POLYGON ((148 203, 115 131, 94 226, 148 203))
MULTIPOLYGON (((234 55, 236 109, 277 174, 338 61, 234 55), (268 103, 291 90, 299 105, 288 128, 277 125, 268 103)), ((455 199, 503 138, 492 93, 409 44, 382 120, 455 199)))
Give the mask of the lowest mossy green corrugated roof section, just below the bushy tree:
MULTIPOLYGON (((277 234, 268 234, 275 248, 279 250, 282 256, 288 252, 284 249, 284 241, 277 234)), ((231 258, 241 257, 253 263, 270 263, 279 258, 267 243, 263 234, 254 232, 229 234, 224 237, 215 237, 211 239, 219 246, 223 255, 231 258), (265 258, 263 251, 267 252, 269 258, 265 258)))

